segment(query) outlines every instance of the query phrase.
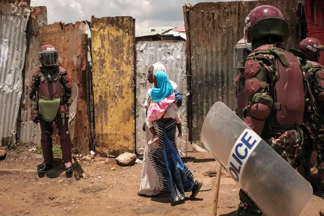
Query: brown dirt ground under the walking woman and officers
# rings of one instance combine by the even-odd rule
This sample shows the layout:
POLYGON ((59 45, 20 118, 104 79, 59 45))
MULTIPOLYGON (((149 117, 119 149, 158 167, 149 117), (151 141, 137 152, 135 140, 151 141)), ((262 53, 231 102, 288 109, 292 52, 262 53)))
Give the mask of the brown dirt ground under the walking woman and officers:
MULTIPOLYGON (((0 215, 210 215, 217 162, 208 153, 188 153, 183 159, 203 186, 195 200, 171 205, 168 195, 137 195, 141 164, 121 167, 113 158, 74 157, 75 175, 66 178, 60 159, 43 178, 34 151, 9 151, 0 161, 0 215)), ((239 188, 223 172, 218 215, 237 215, 239 188)), ((186 194, 187 197, 191 193, 186 194)), ((315 193, 301 215, 319 215, 324 201, 315 193)))

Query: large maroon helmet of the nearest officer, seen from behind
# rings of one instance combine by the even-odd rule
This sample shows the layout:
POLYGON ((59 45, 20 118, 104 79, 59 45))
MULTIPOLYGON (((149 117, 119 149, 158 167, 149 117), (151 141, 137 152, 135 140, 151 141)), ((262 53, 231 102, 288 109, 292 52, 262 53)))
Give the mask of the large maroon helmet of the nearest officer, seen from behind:
POLYGON ((264 37, 276 37, 284 42, 288 36, 288 24, 276 7, 263 5, 253 9, 245 18, 244 37, 247 43, 264 37))

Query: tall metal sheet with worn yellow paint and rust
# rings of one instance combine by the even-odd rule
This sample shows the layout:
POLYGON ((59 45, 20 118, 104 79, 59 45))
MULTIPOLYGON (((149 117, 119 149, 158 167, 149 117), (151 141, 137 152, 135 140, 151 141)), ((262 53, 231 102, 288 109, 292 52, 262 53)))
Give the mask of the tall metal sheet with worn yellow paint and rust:
POLYGON ((91 20, 92 76, 96 151, 134 152, 135 20, 91 20))

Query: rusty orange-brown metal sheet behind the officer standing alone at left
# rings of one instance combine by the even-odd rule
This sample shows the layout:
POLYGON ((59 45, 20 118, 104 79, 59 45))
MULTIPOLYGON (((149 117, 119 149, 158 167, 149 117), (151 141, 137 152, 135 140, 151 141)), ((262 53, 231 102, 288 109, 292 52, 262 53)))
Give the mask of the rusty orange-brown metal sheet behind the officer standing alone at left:
POLYGON ((73 139, 74 147, 80 153, 89 152, 89 114, 86 79, 87 46, 86 46, 86 23, 64 24, 55 22, 43 25, 40 28, 41 46, 51 44, 58 50, 59 63, 67 71, 71 83, 79 87, 78 109, 76 115, 76 131, 73 139))

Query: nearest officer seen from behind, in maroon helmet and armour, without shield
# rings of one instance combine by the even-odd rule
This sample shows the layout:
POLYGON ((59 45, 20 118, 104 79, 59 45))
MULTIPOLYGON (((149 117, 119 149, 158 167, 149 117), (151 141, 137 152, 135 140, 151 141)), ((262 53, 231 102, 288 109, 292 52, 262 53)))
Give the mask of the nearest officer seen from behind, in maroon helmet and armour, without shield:
MULTIPOLYGON (((259 6, 246 17, 244 38, 253 51, 245 62, 244 122, 294 165, 303 141, 305 98, 299 59, 280 47, 288 34, 287 22, 273 6, 259 6)), ((244 191, 239 196, 238 215, 262 214, 244 191)))

